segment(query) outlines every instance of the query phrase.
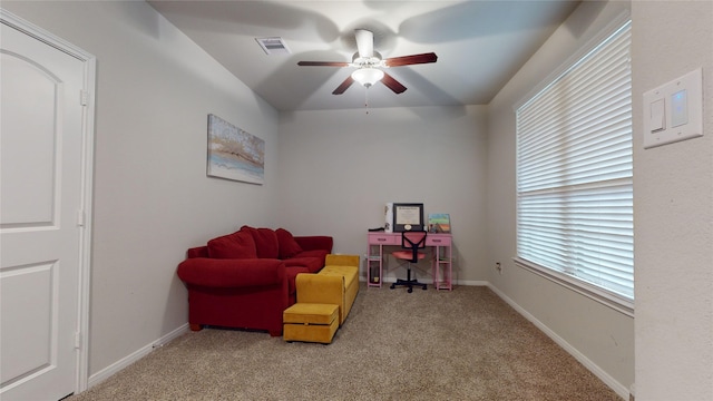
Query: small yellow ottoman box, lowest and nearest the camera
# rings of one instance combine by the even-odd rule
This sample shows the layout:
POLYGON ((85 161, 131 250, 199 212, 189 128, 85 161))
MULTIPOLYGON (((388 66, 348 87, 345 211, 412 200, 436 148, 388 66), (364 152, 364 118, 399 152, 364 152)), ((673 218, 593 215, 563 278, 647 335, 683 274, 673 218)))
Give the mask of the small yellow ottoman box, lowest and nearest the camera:
POLYGON ((330 344, 339 329, 339 306, 296 303, 282 313, 285 341, 306 341, 330 344))

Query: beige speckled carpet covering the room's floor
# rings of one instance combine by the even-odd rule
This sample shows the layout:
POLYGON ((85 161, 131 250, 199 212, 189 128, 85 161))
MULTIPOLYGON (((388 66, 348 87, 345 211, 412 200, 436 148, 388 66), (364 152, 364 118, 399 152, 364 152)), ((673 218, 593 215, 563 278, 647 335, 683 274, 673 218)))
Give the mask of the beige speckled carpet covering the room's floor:
POLYGON ((187 333, 85 400, 621 400, 487 287, 362 288, 332 344, 187 333))

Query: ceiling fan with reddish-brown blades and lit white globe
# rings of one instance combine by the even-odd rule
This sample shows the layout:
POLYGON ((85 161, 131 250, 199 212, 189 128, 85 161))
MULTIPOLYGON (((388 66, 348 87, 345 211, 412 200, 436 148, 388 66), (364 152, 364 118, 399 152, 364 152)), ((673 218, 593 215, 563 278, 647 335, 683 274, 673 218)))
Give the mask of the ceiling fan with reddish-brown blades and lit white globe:
POLYGON ((378 51, 374 51, 374 35, 367 29, 355 29, 356 51, 352 57, 352 62, 340 61, 300 61, 297 66, 325 66, 325 67, 354 67, 356 70, 334 89, 332 95, 342 95, 354 81, 369 88, 381 81, 395 94, 403 92, 407 88, 381 68, 411 66, 419 63, 436 62, 438 57, 434 52, 392 57, 382 59, 378 51))

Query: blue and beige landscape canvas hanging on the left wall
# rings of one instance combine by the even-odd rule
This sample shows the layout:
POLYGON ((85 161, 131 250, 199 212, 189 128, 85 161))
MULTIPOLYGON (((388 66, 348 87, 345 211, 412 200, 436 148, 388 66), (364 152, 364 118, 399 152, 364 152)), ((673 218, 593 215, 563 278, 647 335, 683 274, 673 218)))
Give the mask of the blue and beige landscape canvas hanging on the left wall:
POLYGON ((206 175, 265 184, 265 141, 209 114, 206 175))

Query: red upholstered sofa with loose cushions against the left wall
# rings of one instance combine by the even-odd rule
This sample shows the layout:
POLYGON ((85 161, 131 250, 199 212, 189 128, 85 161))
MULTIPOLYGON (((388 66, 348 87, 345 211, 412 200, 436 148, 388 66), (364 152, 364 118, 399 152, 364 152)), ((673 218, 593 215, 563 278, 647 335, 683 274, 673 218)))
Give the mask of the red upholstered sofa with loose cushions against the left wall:
POLYGON ((283 228, 240 231, 189 248, 178 265, 188 288, 188 323, 266 330, 282 335, 282 312, 295 303, 299 273, 316 273, 331 236, 293 236, 283 228))

